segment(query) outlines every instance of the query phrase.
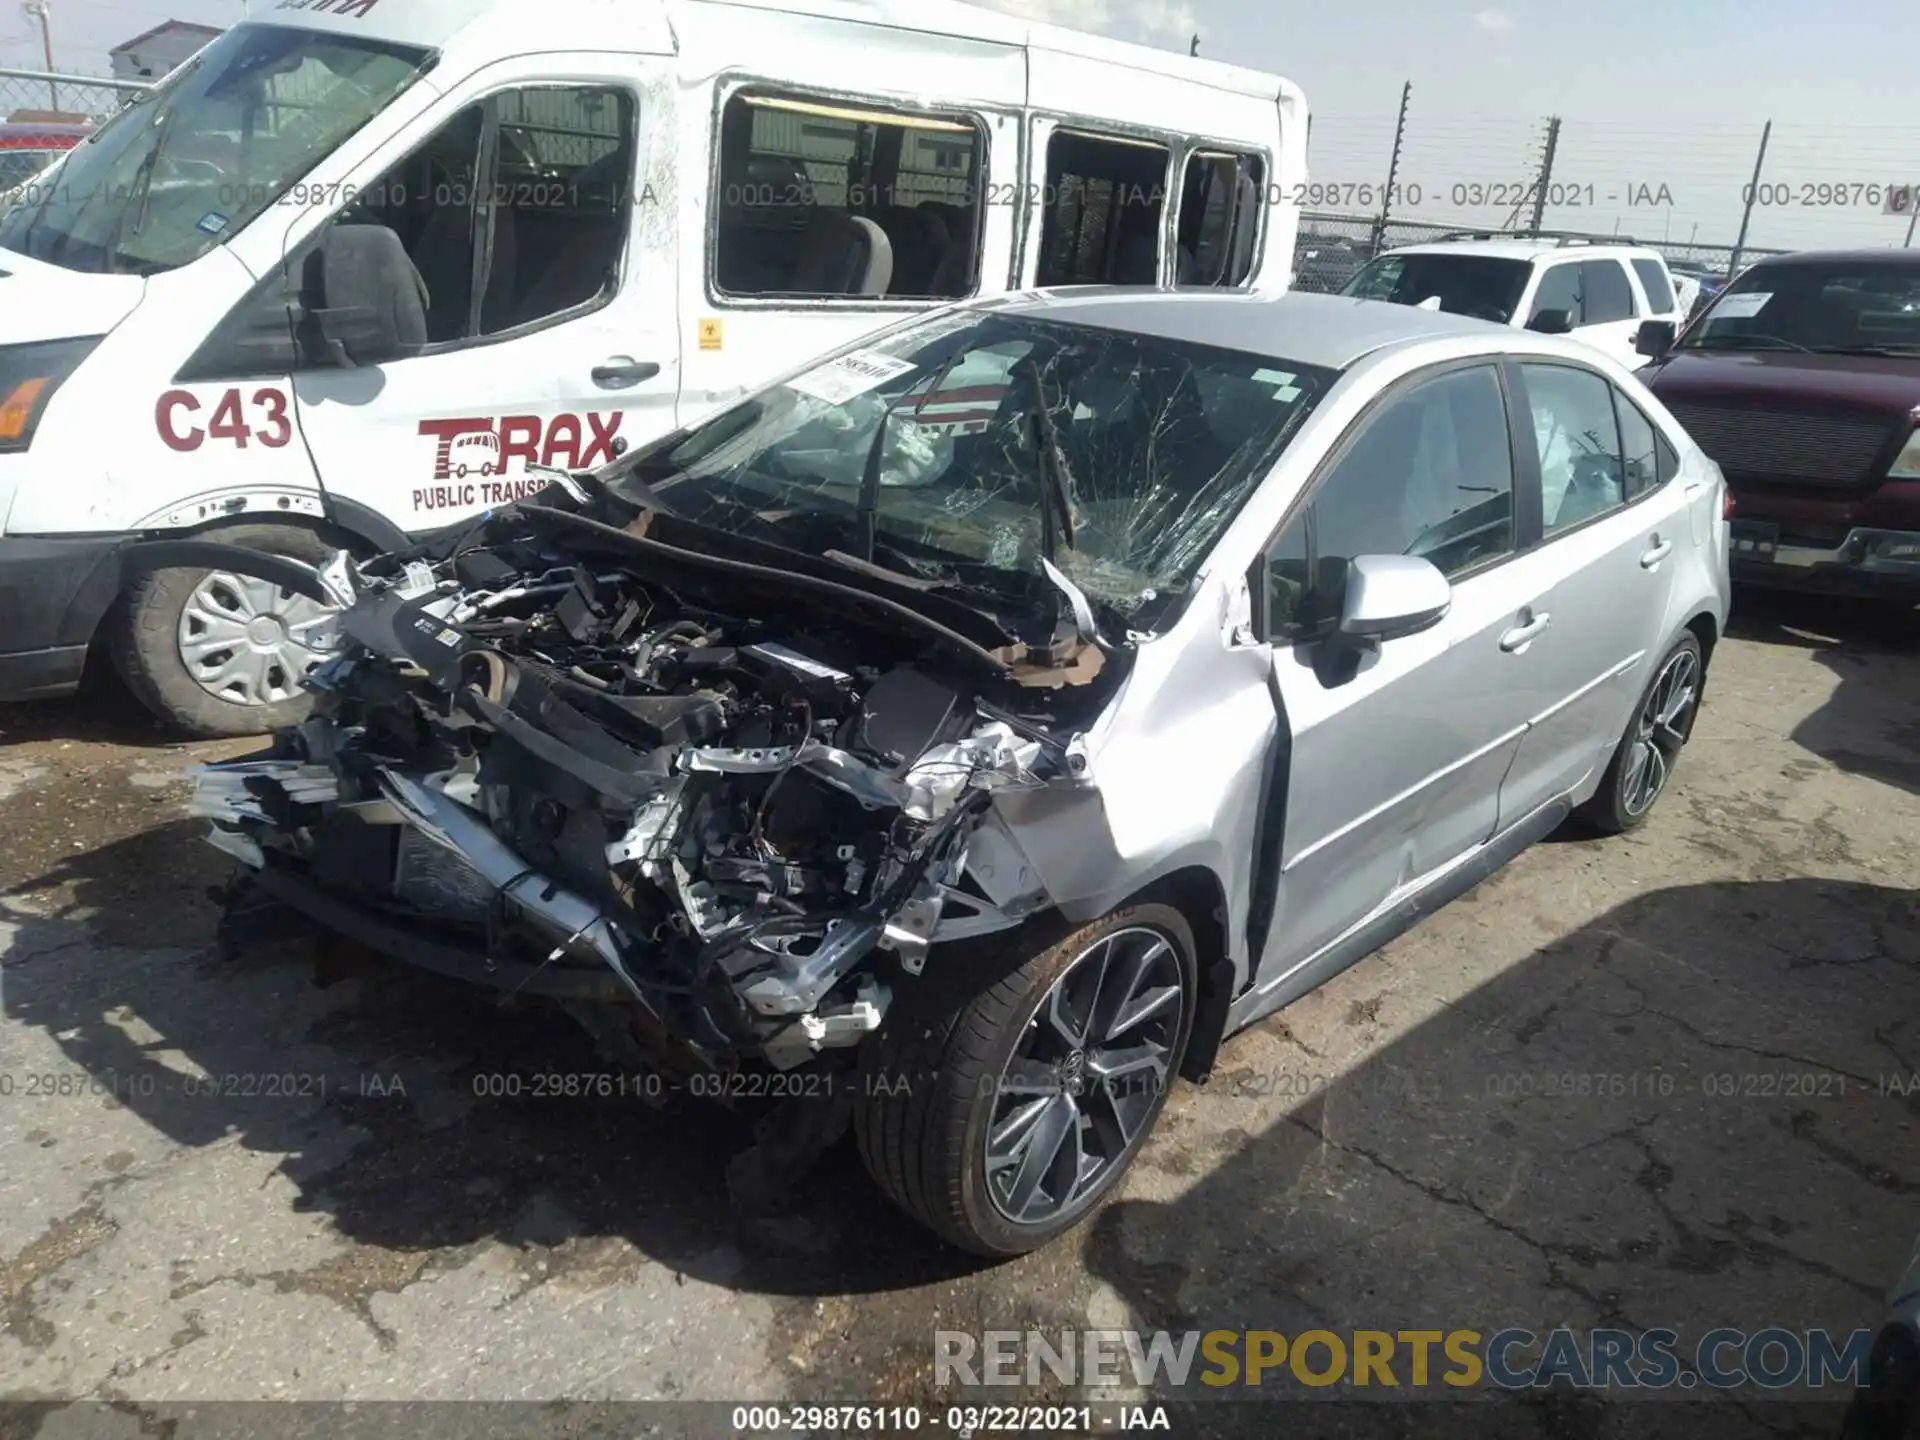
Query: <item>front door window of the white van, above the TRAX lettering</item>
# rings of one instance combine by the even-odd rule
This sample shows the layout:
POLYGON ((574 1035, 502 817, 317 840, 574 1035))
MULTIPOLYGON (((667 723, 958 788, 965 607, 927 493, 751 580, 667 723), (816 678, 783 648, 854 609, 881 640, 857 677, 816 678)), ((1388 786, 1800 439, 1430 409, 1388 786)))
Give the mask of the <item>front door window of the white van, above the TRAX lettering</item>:
POLYGON ((348 207, 386 225, 426 284, 426 338, 449 346, 564 315, 620 282, 636 102, 530 86, 468 106, 348 207))

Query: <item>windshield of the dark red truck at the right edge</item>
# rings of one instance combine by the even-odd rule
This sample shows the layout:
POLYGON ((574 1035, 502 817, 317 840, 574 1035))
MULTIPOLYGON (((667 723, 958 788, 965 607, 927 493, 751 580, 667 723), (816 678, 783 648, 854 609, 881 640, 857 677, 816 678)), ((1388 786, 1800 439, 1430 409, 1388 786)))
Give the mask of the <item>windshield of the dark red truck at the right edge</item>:
POLYGON ((1755 265, 1720 292, 1680 348, 1920 355, 1920 265, 1755 265))

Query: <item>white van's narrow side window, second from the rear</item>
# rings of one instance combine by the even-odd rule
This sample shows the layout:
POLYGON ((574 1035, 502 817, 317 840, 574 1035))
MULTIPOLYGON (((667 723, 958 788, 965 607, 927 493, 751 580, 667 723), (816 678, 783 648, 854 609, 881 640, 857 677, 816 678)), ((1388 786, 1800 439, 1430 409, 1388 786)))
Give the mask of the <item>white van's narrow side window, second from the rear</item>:
POLYGON ((1146 140, 1056 131, 1035 284, 1154 284, 1169 159, 1146 140))

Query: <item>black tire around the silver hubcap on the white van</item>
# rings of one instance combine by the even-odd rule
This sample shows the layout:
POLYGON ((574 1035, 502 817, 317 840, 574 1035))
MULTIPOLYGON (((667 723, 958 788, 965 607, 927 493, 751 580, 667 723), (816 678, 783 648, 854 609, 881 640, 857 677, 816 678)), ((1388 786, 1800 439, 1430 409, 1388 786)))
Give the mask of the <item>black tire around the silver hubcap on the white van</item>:
MULTIPOLYGON (((324 564, 340 549, 313 530, 288 524, 236 524, 198 540, 324 564)), ((134 578, 108 618, 108 655, 134 699, 196 739, 265 735, 298 726, 311 710, 305 695, 276 705, 236 705, 202 689, 180 660, 180 611, 209 570, 148 570, 134 578)))

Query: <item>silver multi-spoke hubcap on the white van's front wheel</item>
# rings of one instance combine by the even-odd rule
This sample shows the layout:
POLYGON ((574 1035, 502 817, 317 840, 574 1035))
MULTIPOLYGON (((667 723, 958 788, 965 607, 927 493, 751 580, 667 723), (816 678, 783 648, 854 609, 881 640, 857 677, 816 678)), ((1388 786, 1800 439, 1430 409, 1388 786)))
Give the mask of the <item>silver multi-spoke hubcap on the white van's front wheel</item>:
POLYGON ((219 701, 278 705, 332 653, 338 614, 271 580, 215 570, 180 611, 180 662, 219 701))

